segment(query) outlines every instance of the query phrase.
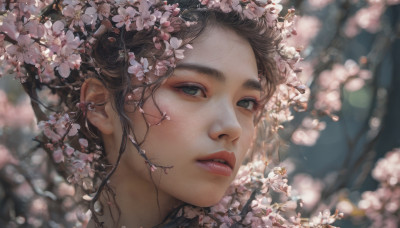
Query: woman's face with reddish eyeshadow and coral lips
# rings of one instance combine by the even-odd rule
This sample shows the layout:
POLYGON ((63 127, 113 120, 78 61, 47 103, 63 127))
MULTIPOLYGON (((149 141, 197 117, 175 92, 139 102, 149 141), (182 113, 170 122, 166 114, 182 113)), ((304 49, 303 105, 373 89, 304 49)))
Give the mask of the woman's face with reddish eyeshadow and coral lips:
MULTIPOLYGON (((149 128, 142 148, 153 163, 173 168, 167 174, 157 169, 150 176, 143 158, 129 145, 120 164, 131 173, 127 175, 193 205, 217 203, 253 140, 261 91, 257 75, 250 44, 230 29, 209 26, 156 90, 154 101, 148 99, 143 106, 150 124, 161 118, 155 103, 170 119, 149 128)), ((142 113, 133 113, 131 119, 134 134, 143 139, 142 113)))

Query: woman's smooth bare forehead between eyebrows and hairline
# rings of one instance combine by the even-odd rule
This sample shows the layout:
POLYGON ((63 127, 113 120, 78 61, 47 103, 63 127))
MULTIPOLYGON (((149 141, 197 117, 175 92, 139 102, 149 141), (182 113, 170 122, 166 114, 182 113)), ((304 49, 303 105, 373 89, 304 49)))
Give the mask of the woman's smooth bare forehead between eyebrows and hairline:
POLYGON ((180 63, 197 64, 217 69, 224 75, 258 79, 257 62, 250 43, 233 30, 207 26, 185 51, 180 63))

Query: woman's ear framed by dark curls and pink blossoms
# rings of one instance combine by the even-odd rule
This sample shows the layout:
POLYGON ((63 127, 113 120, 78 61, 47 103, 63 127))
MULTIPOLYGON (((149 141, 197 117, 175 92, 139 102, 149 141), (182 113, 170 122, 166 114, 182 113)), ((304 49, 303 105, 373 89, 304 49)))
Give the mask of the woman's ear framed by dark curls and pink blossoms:
POLYGON ((89 78, 82 84, 80 102, 82 104, 89 102, 94 104, 93 109, 87 112, 87 119, 101 133, 106 135, 114 132, 113 119, 116 115, 109 97, 108 90, 98 79, 89 78))

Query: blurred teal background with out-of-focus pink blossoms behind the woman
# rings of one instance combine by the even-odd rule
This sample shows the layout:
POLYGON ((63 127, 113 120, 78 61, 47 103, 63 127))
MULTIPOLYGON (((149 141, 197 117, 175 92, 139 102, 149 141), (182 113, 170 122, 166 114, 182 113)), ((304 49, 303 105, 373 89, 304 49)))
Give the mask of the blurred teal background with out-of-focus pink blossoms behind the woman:
MULTIPOLYGON (((289 44, 301 50, 300 76, 310 87, 307 111, 293 111, 274 155, 289 171, 292 197, 302 200, 305 217, 339 209, 345 218, 336 226, 400 227, 400 1, 281 3, 283 12, 296 9, 289 44)), ((18 166, 6 165, 43 169, 41 153, 23 158, 37 131, 19 82, 1 77, 0 220, 19 214, 9 208, 48 210, 40 198, 26 203, 35 194, 52 197, 40 190, 45 180, 27 181, 18 166), (13 205, 19 202, 22 208, 13 205)))

